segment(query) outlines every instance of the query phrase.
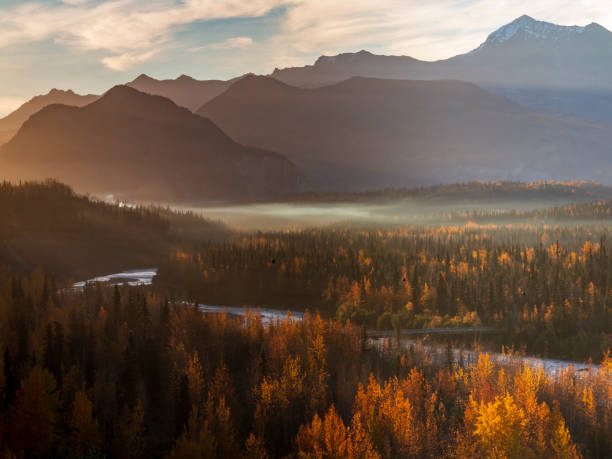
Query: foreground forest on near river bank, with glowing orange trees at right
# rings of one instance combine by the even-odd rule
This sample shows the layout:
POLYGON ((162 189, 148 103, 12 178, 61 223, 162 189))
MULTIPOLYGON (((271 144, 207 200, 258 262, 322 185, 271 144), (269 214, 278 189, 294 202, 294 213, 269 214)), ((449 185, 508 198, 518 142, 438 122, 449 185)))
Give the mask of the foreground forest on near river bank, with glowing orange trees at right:
POLYGON ((0 272, 0 442, 22 457, 610 457, 612 359, 556 377, 0 272))

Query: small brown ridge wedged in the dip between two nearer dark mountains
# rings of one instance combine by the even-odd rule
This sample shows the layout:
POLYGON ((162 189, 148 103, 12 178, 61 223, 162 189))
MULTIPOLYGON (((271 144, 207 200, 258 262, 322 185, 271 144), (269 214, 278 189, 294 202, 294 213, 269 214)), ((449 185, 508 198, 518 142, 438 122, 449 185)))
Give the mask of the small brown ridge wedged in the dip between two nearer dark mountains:
POLYGON ((167 97, 179 107, 188 108, 193 112, 217 97, 238 79, 240 77, 228 81, 201 81, 181 75, 174 80, 156 80, 143 74, 127 83, 127 86, 147 94, 167 97))

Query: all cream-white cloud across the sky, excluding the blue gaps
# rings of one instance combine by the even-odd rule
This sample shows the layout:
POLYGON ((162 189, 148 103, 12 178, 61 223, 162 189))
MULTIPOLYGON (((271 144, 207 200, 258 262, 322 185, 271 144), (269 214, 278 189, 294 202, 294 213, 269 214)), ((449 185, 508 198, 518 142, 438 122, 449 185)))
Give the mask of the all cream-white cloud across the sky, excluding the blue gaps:
MULTIPOLYGON (((278 35, 257 44, 233 37, 191 50, 249 48, 261 65, 310 61, 313 55, 361 48, 422 59, 478 46, 488 33, 522 15, 560 24, 612 26, 609 0, 34 0, 0 7, 0 48, 51 39, 97 51, 125 70, 175 45, 177 27, 197 21, 260 17, 284 6, 278 35)), ((221 53, 220 53, 221 55, 221 53)), ((246 65, 246 61, 236 66, 246 65)), ((240 69, 247 71, 249 69, 240 69)))

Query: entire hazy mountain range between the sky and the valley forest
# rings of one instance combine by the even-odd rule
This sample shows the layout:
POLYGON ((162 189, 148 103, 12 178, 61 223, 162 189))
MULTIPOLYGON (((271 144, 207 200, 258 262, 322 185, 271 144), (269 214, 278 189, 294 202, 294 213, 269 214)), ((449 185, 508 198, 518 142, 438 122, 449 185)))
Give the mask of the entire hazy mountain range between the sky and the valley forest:
POLYGON ((52 90, 0 120, 0 166, 4 177, 166 200, 611 183, 610 75, 611 32, 522 16, 436 62, 360 51, 268 77, 140 75, 101 97, 52 90))

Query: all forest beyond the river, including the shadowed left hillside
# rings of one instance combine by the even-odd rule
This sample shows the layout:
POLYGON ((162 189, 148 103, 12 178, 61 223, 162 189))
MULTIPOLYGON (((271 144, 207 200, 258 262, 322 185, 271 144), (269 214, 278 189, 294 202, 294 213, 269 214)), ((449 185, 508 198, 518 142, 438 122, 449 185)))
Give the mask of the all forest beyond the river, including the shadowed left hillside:
MULTIPOLYGON (((508 187, 529 188, 468 186, 508 187)), ((60 284, 158 267, 155 291, 176 301, 310 309, 385 330, 486 325, 499 330, 494 350, 580 361, 612 347, 610 201, 516 211, 502 223, 471 214, 444 225, 265 233, 106 203, 51 181, 5 183, 0 205, 0 266, 40 268, 60 284), (571 224, 584 220, 593 223, 571 224)))

